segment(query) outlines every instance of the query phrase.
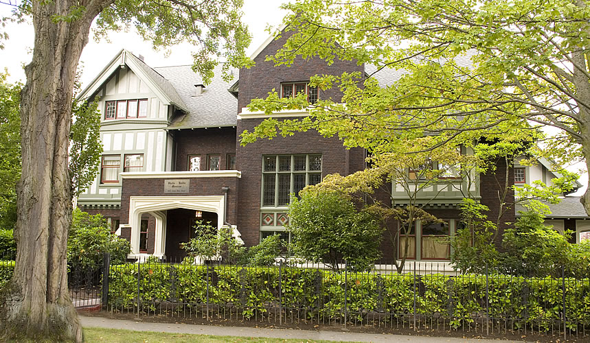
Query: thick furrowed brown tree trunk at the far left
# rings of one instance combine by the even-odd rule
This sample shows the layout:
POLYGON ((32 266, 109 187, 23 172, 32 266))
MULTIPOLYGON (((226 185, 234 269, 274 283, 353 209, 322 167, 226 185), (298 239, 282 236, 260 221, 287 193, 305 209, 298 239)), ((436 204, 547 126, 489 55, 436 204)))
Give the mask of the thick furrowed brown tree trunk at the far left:
POLYGON ((92 18, 55 21, 79 2, 33 1, 33 59, 21 95, 23 171, 14 276, 0 296, 3 338, 82 340, 67 288, 67 236, 71 223, 68 173, 71 97, 78 60, 92 18))

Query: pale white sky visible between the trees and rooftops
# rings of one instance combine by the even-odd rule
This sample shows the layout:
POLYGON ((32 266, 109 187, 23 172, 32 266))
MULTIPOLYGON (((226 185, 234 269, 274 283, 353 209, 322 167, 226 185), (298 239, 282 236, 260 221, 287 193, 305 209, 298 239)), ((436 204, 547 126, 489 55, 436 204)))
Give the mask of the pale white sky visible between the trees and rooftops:
MULTIPOLYGON (((252 41, 247 55, 250 56, 262 43, 269 37, 266 27, 277 27, 280 25, 286 11, 280 9, 280 5, 288 0, 245 0, 243 6, 244 16, 242 22, 248 25, 252 41)), ((10 15, 11 8, 8 5, 0 4, 0 17, 10 15)), ((30 62, 33 44, 33 27, 30 23, 11 23, 3 28, 4 32, 10 37, 5 42, 5 49, 0 50, 0 71, 8 70, 10 74, 8 82, 25 82, 25 73, 23 65, 30 62)), ((192 64, 190 45, 179 45, 173 47, 173 54, 166 56, 163 51, 154 51, 152 45, 143 40, 133 31, 130 32, 112 32, 109 35, 109 41, 100 40, 96 42, 92 37, 89 43, 84 47, 80 57, 80 66, 82 67, 82 88, 89 84, 106 63, 121 50, 127 49, 135 55, 144 56, 144 61, 150 67, 163 67, 174 65, 192 64)), ((569 166, 570 171, 578 172, 585 169, 583 163, 577 163, 569 166)), ((582 174, 580 182, 587 185, 588 176, 582 174)), ((586 187, 582 187, 575 195, 582 195, 586 187)))

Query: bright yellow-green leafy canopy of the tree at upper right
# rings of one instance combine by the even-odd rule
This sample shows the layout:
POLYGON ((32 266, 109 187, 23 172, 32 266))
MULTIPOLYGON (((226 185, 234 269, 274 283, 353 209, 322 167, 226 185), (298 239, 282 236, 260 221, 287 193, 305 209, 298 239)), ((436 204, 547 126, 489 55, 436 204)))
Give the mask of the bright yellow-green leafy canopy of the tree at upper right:
MULTIPOLYGON (((310 128, 376 152, 402 151, 425 135, 436 137, 429 149, 534 137, 543 140, 538 156, 590 163, 587 1, 297 0, 284 8, 295 33, 269 60, 356 60, 369 65, 369 78, 312 78, 320 88, 341 88, 339 104, 276 93, 254 100, 253 110, 308 108, 309 116, 267 119, 242 143, 310 128), (398 80, 380 85, 372 76, 383 69, 398 71, 398 80), (558 134, 533 134, 544 126, 558 134)), ((590 213, 590 201, 585 206, 590 213)))

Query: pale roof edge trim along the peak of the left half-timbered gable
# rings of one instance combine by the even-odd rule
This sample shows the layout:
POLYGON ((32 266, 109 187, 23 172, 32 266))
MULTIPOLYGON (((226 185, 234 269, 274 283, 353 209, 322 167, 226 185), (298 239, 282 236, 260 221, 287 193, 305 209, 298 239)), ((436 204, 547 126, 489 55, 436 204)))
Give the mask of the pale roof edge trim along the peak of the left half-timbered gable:
POLYGON ((111 78, 111 75, 122 66, 128 67, 138 78, 146 82, 163 105, 174 105, 184 112, 188 112, 188 107, 182 101, 174 86, 166 78, 163 78, 162 75, 157 73, 157 71, 145 64, 144 61, 139 60, 139 58, 125 49, 122 49, 109 64, 106 64, 106 67, 98 73, 89 86, 78 95, 78 99, 88 99, 94 95, 111 78))

